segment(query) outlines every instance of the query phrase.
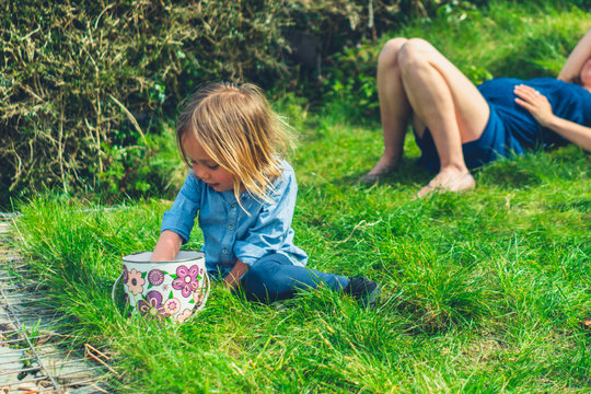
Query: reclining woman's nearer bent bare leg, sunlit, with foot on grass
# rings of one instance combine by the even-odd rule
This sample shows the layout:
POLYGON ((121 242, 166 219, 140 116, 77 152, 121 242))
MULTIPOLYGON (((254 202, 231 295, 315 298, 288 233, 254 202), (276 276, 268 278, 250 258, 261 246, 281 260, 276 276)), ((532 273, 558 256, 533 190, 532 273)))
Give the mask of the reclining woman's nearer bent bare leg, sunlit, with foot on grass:
POLYGON ((473 188, 475 182, 464 162, 462 143, 480 137, 488 121, 488 104, 476 86, 424 39, 407 40, 397 62, 404 92, 417 118, 415 124, 429 128, 441 163, 439 174, 418 196, 436 189, 473 188))

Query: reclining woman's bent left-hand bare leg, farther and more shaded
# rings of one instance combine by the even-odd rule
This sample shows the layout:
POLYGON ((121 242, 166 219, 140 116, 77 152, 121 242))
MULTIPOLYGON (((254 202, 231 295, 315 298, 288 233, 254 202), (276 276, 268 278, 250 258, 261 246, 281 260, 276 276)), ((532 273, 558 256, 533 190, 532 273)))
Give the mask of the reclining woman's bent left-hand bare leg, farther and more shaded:
POLYGON ((362 183, 373 183, 379 179, 380 175, 393 171, 403 154, 404 137, 412 108, 404 92, 397 54, 406 42, 406 38, 389 40, 378 59, 378 96, 380 99, 384 153, 373 169, 359 179, 362 183))

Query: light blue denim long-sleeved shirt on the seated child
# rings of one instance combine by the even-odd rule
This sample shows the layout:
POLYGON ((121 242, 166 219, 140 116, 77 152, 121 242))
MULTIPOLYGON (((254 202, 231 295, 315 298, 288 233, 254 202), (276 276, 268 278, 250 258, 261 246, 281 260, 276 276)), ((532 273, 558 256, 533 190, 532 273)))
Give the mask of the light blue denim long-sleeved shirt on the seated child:
POLYGON ((293 264, 305 265, 308 255, 293 244, 291 229, 298 194, 296 174, 286 161, 281 162, 281 169, 282 174, 269 193, 273 202, 260 201, 247 192, 240 196, 247 213, 237 204, 233 190, 216 192, 190 171, 172 208, 164 212, 161 231, 174 231, 184 244, 198 216, 207 269, 222 276, 230 273, 236 259, 252 266, 271 253, 281 253, 293 264))

